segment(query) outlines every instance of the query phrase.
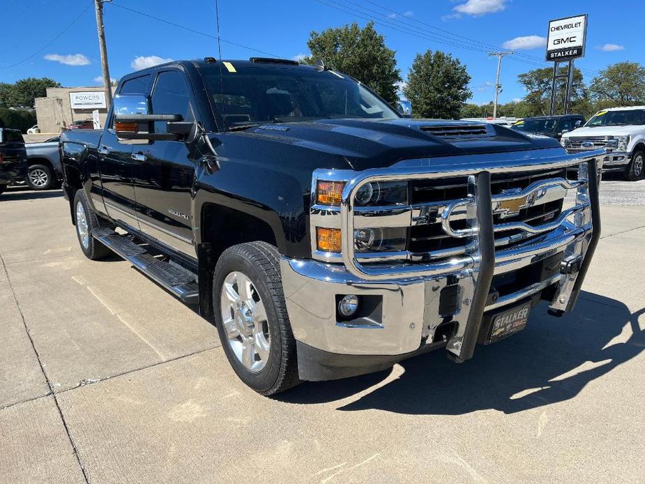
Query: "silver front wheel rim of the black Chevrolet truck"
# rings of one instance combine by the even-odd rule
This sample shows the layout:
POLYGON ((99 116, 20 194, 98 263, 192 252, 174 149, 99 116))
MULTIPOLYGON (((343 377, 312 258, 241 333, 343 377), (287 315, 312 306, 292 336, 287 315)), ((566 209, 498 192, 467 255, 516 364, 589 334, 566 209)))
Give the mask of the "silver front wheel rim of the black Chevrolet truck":
POLYGON ((229 273, 220 291, 222 324, 227 341, 245 368, 259 372, 271 348, 266 309, 253 282, 241 272, 229 273))

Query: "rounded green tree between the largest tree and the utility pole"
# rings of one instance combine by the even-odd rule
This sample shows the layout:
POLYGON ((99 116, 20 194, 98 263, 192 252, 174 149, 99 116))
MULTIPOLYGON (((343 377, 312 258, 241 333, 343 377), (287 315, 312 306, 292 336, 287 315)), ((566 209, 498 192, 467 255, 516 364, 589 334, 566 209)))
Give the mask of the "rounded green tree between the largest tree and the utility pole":
POLYGON ((471 77, 459 59, 439 50, 416 54, 403 93, 417 118, 454 119, 466 99, 471 77))

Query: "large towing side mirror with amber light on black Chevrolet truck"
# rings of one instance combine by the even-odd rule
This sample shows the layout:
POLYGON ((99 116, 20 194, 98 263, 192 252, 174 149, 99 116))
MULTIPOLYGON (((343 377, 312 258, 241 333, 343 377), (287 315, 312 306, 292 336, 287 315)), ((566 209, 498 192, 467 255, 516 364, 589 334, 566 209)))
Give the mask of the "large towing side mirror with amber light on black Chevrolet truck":
POLYGON ((177 140, 192 130, 194 123, 182 122, 181 114, 150 114, 150 98, 140 94, 114 97, 114 131, 118 139, 177 140), (152 123, 167 122, 167 133, 152 133, 152 123))

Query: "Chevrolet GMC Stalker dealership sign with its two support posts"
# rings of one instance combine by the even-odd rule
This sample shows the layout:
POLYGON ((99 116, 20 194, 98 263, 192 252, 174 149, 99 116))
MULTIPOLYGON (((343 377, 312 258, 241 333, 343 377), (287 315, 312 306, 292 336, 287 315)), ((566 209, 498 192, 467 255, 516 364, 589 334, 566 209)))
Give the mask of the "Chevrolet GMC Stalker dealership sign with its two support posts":
POLYGON ((549 22, 547 36, 547 61, 552 61, 553 82, 551 85, 551 115, 555 114, 556 84, 560 78, 567 80, 564 98, 564 114, 569 113, 571 89, 573 84, 573 61, 584 56, 586 44, 587 15, 576 15, 549 22), (568 61, 569 69, 566 74, 559 73, 559 64, 568 61))

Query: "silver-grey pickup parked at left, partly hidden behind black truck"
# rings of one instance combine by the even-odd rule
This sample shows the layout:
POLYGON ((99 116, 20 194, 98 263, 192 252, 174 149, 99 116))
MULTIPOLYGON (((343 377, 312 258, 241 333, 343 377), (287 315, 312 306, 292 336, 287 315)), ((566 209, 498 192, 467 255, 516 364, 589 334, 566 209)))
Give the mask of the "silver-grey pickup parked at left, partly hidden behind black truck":
POLYGON ((43 143, 27 143, 27 176, 25 182, 31 190, 49 190, 63 179, 59 138, 43 143))

